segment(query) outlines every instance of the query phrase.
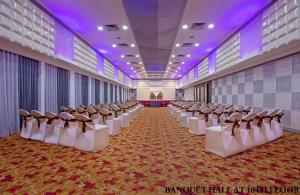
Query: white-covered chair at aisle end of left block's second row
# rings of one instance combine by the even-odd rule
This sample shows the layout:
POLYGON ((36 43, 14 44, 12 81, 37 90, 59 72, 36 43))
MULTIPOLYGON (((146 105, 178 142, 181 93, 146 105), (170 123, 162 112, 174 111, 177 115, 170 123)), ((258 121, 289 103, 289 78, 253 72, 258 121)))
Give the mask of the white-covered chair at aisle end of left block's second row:
POLYGON ((121 118, 114 118, 112 112, 106 108, 100 108, 99 114, 102 116, 102 124, 108 126, 110 135, 117 135, 121 132, 121 118))

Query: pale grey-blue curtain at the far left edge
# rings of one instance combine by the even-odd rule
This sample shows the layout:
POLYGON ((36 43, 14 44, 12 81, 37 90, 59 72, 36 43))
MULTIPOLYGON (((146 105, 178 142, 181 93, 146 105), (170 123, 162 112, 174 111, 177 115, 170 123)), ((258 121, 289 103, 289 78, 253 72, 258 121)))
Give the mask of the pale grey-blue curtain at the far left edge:
POLYGON ((0 137, 19 131, 17 55, 0 50, 0 137))

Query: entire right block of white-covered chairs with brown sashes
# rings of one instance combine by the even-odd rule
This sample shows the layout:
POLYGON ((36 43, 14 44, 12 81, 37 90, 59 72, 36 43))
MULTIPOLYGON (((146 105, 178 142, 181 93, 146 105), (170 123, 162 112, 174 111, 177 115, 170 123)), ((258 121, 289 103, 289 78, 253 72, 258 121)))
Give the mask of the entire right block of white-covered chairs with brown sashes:
POLYGON ((252 107, 172 102, 170 114, 195 135, 205 136, 206 150, 228 157, 283 136, 284 110, 251 112, 252 107))

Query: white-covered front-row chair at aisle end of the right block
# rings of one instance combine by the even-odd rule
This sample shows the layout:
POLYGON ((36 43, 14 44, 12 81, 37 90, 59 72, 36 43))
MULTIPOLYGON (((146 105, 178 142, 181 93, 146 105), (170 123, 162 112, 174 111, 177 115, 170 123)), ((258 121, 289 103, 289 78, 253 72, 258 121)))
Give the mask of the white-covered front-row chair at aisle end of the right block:
POLYGON ((241 113, 234 113, 222 125, 207 128, 205 149, 223 158, 243 152, 243 145, 237 136, 241 117, 241 113))

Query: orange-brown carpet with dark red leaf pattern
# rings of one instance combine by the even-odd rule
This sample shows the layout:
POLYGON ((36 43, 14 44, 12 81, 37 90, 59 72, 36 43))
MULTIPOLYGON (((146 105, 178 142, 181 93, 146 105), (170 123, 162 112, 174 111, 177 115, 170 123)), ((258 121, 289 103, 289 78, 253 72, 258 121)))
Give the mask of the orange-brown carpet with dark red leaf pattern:
MULTIPOLYGON (((86 153, 10 136, 0 139, 0 194, 166 194, 168 187, 298 186, 300 135, 228 159, 204 149, 205 137, 179 126, 165 108, 148 108, 86 153)), ((207 194, 207 193, 206 193, 207 194)))

